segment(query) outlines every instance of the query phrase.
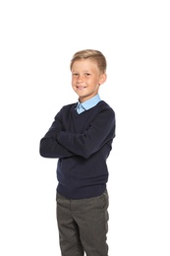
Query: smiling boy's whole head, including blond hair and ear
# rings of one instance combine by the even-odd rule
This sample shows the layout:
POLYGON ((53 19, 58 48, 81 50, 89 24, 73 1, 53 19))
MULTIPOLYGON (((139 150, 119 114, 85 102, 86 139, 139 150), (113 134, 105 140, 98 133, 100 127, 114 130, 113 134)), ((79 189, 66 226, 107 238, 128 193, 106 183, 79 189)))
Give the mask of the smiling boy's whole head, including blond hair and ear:
POLYGON ((98 50, 85 49, 74 54, 71 61, 72 87, 81 102, 98 94, 106 81, 106 59, 98 50))

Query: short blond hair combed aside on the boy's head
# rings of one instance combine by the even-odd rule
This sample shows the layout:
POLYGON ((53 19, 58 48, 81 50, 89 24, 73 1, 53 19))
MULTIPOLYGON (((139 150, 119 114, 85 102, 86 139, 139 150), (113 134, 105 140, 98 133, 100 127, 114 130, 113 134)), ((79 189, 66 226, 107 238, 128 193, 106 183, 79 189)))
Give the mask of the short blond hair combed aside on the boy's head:
POLYGON ((85 49, 76 52, 71 60, 70 69, 76 60, 91 59, 96 62, 98 70, 101 73, 106 72, 107 62, 105 56, 99 50, 85 49))

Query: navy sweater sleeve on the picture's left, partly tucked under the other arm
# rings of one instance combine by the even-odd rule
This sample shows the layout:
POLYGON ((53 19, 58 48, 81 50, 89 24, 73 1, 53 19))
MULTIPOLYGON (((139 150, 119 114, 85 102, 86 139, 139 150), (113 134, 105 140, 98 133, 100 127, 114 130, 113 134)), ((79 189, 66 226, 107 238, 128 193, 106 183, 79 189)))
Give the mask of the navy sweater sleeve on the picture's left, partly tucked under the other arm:
POLYGON ((60 112, 55 116, 55 120, 49 128, 45 136, 40 140, 39 154, 43 158, 69 158, 74 156, 72 152, 67 150, 56 140, 58 132, 62 131, 62 122, 60 112))

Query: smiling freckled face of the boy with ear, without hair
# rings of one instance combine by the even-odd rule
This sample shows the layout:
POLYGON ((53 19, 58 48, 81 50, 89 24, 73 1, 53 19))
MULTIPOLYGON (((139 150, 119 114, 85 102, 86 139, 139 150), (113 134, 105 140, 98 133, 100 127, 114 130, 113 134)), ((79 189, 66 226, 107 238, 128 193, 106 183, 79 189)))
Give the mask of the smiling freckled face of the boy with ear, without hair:
POLYGON ((81 102, 98 94, 99 86, 106 81, 106 74, 101 74, 95 61, 77 60, 72 67, 72 87, 81 102))

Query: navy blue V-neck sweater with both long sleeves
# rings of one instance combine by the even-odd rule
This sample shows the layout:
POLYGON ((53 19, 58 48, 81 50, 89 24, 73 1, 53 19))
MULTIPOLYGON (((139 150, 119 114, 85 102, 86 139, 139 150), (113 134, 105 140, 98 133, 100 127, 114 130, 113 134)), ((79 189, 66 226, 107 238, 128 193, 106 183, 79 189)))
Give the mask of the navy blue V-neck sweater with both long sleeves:
POLYGON ((57 192, 69 199, 101 195, 106 189, 106 160, 115 137, 115 113, 103 100, 78 114, 65 105, 40 140, 40 155, 56 158, 57 192))

